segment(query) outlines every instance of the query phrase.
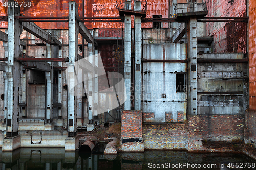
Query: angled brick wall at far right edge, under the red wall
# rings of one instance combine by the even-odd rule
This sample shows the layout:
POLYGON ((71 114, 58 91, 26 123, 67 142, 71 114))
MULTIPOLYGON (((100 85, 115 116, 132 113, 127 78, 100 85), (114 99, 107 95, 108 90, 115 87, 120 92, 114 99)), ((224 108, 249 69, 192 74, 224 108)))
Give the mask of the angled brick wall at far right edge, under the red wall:
POLYGON ((245 123, 245 143, 253 143, 256 147, 256 111, 246 110, 245 123))

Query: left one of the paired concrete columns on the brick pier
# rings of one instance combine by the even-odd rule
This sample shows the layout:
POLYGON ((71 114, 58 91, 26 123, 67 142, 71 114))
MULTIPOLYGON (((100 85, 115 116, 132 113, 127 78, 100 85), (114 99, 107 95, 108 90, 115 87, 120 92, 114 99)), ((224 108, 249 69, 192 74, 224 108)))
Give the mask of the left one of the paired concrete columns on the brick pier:
MULTIPOLYGON (((131 10, 131 1, 125 1, 127 10, 131 10)), ((131 15, 124 16, 124 82, 126 101, 124 110, 131 110, 131 15)))

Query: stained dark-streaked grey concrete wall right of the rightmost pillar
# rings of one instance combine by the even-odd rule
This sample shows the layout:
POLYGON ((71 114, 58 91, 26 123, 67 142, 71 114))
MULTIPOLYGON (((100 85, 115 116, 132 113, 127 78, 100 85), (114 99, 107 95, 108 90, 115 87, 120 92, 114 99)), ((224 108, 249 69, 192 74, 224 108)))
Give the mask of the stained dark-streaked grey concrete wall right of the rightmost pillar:
MULTIPOLYGON (((242 59, 242 53, 212 53, 198 58, 242 59)), ((248 102, 247 64, 198 63, 199 114, 244 114, 248 102)))

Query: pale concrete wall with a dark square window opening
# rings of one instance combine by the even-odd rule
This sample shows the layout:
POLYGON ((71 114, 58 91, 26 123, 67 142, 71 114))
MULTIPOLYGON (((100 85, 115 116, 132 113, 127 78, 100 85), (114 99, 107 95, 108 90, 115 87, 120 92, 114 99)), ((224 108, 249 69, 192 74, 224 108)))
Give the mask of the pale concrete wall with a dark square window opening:
MULTIPOLYGON (((185 44, 145 44, 143 59, 185 60, 186 47, 185 44)), ((183 112, 186 119, 186 92, 176 92, 176 74, 185 71, 185 63, 143 63, 143 112, 154 113, 152 122, 168 122, 166 112, 172 112, 173 119, 177 112, 183 112)))

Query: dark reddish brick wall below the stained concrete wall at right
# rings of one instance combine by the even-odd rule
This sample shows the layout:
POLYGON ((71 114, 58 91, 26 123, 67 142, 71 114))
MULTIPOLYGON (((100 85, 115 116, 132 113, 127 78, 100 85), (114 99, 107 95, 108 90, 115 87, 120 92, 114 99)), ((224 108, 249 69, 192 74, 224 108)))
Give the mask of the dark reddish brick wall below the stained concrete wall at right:
POLYGON ((210 150, 202 141, 232 142, 244 139, 244 115, 189 116, 187 150, 210 150))

